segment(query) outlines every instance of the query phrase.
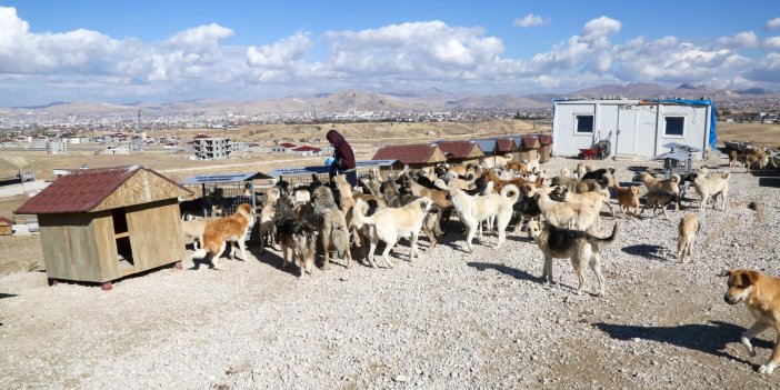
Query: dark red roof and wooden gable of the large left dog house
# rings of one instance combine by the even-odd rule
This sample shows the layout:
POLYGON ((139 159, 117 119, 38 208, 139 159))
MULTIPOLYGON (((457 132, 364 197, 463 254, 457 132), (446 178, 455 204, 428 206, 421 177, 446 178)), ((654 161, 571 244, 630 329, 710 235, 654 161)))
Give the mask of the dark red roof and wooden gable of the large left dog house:
POLYGON ((142 166, 83 169, 57 179, 14 213, 92 212, 191 194, 192 191, 142 166))

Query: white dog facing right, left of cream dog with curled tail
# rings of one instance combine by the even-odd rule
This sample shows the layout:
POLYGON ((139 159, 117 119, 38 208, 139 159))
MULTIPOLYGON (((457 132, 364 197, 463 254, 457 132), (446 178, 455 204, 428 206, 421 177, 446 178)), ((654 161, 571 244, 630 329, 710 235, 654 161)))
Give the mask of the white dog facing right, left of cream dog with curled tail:
POLYGON ((377 243, 383 241, 386 243, 384 252, 382 252, 382 259, 390 267, 393 268, 394 264, 390 261, 390 250, 396 246, 399 238, 407 238, 411 240, 411 248, 409 249, 409 261, 412 261, 414 256, 418 257, 420 253, 417 251, 417 239, 420 236, 420 230, 422 229, 422 221, 426 214, 429 212, 438 212, 439 208, 436 206, 433 200, 430 198, 419 198, 411 203, 400 207, 400 208, 384 208, 379 209, 373 216, 367 217, 363 210, 368 208, 368 203, 363 200, 358 200, 354 204, 354 219, 358 223, 369 224, 369 262, 371 267, 377 268, 377 263, 373 261, 373 252, 377 249, 377 243))

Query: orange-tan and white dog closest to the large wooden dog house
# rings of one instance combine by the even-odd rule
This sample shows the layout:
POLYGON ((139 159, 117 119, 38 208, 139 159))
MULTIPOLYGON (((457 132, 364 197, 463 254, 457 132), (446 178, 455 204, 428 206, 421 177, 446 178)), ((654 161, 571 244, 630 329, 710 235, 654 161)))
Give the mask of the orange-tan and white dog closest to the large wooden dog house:
POLYGON ((228 242, 237 242, 241 249, 241 260, 247 261, 247 243, 243 238, 254 223, 254 210, 248 203, 239 204, 236 213, 220 218, 206 226, 203 230, 203 248, 192 253, 191 258, 207 258, 216 270, 222 269, 219 257, 228 242))

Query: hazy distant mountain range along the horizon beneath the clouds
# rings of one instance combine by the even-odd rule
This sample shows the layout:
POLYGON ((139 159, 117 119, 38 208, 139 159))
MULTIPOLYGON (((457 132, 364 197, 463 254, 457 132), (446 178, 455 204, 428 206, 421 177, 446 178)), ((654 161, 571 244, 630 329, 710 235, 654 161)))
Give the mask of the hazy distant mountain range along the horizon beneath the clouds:
POLYGON ((712 89, 704 84, 682 83, 676 88, 666 88, 656 83, 634 82, 626 86, 603 84, 566 93, 533 93, 533 94, 491 94, 464 96, 438 88, 420 90, 394 90, 386 92, 367 92, 348 89, 336 92, 322 92, 312 96, 286 97, 254 101, 222 101, 214 99, 190 99, 161 104, 140 101, 124 104, 101 102, 66 102, 57 101, 43 106, 0 108, 0 114, 29 113, 48 116, 71 114, 127 114, 138 111, 154 114, 199 113, 199 114, 253 114, 259 112, 334 112, 334 111, 404 111, 404 110, 457 110, 457 109, 533 109, 550 108, 556 99, 567 98, 601 98, 622 96, 627 99, 654 99, 658 97, 713 99, 756 99, 768 96, 780 96, 780 92, 763 88, 749 88, 739 91, 712 89))

